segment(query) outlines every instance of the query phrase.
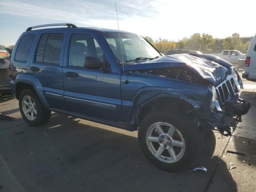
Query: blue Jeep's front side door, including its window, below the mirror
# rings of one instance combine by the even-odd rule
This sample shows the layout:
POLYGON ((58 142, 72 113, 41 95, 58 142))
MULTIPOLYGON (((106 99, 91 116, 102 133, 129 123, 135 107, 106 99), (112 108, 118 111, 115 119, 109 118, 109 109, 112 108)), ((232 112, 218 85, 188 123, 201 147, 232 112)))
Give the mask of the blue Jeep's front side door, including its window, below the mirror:
POLYGON ((69 42, 67 65, 63 66, 62 74, 68 110, 89 118, 120 121, 120 73, 84 67, 87 56, 108 64, 102 48, 90 32, 70 34, 69 42))

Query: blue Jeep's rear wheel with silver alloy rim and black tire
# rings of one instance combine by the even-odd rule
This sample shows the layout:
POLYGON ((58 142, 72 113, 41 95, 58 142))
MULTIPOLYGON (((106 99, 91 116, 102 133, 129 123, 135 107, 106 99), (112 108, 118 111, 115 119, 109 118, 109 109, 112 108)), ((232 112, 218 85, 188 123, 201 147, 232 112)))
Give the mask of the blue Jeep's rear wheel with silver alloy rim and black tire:
POLYGON ((51 111, 45 110, 38 96, 30 89, 24 89, 19 97, 20 112, 30 126, 38 126, 49 121, 51 111))

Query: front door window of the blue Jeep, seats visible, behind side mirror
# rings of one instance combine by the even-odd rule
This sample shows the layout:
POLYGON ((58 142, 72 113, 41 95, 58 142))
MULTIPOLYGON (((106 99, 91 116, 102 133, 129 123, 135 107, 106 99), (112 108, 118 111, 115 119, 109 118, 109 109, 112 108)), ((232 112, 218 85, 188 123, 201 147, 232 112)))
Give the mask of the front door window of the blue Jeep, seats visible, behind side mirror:
POLYGON ((97 57, 103 62, 103 52, 98 42, 90 35, 73 34, 70 41, 68 65, 84 66, 86 56, 97 57))

